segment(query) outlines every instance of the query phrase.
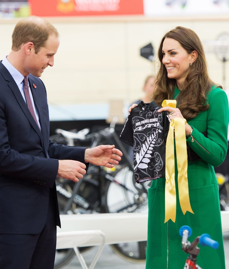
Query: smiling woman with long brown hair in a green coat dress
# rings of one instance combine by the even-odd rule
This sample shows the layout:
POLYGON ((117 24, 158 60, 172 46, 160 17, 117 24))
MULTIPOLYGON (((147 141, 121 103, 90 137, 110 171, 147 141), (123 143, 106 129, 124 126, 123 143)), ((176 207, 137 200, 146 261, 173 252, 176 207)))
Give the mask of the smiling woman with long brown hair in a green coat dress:
MULTIPOLYGON (((149 188, 146 269, 184 268, 187 254, 181 250, 179 235, 183 225, 192 229, 190 241, 207 233, 219 242, 218 249, 201 247, 197 257, 199 266, 225 269, 214 167, 224 161, 228 148, 228 99, 222 87, 209 78, 204 49, 193 30, 178 26, 167 32, 159 44, 158 59, 152 98, 158 106, 162 106, 163 100, 176 99, 177 103, 176 108, 166 106, 158 112, 167 111, 171 120, 179 117, 187 121, 187 179, 191 210, 183 213, 180 207, 175 155, 175 221, 165 218, 166 179, 152 180, 149 188)), ((129 112, 135 106, 133 104, 129 112)))

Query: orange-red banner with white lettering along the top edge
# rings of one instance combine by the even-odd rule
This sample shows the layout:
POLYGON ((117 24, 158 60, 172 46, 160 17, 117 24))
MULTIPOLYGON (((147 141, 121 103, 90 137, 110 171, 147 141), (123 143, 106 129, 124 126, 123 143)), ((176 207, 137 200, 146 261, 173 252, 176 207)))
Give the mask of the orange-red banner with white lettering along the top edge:
POLYGON ((32 15, 88 16, 143 14, 143 0, 29 0, 32 15), (47 7, 47 8, 44 8, 47 7))

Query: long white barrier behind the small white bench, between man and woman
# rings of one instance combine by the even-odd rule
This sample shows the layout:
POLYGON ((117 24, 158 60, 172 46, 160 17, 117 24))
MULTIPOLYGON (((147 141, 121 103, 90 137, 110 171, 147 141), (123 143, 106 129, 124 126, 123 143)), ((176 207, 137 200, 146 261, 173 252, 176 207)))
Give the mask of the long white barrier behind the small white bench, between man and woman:
MULTIPOLYGON (((101 230, 106 245, 147 240, 147 214, 143 213, 102 213, 60 215, 61 229, 57 232, 101 230)), ((90 246, 97 245, 90 239, 90 246)), ((81 246, 89 246, 88 242, 81 246), (86 244, 86 245, 85 245, 86 244)))

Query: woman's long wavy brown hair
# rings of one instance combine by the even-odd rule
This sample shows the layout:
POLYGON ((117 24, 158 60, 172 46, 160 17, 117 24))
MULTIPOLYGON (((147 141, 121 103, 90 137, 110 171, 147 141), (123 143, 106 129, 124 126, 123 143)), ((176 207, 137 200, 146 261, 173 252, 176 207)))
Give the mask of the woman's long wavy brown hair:
MULTIPOLYGON (((182 89, 177 97, 177 107, 185 119, 195 118, 198 113, 208 109, 206 94, 215 84, 208 76, 207 63, 202 43, 197 34, 188 28, 177 26, 167 32, 162 38, 158 48, 159 69, 155 80, 156 88, 153 100, 161 106, 165 99, 173 99, 176 79, 169 79, 166 67, 162 63, 162 46, 165 38, 178 41, 188 54, 196 50, 197 59, 189 68, 189 73, 184 81, 182 89)), ((222 86, 218 87, 222 88, 222 86)))

